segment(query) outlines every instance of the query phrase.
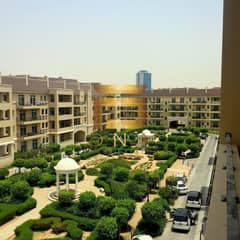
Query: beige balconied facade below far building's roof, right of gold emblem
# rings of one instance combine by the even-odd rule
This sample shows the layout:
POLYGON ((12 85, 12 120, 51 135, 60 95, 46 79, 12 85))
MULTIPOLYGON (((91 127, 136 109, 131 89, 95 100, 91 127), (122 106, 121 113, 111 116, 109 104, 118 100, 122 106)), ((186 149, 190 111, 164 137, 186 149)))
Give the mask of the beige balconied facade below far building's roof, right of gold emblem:
POLYGON ((170 127, 171 122, 219 130, 220 97, 148 96, 147 124, 170 127))

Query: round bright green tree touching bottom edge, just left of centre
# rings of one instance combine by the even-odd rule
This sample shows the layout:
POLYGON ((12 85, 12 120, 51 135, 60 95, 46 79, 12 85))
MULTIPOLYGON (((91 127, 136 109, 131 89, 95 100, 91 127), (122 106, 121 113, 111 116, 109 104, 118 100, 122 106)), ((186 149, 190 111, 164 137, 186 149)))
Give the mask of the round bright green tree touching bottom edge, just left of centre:
POLYGON ((114 240, 118 236, 118 225, 115 218, 103 217, 96 226, 98 239, 114 240))

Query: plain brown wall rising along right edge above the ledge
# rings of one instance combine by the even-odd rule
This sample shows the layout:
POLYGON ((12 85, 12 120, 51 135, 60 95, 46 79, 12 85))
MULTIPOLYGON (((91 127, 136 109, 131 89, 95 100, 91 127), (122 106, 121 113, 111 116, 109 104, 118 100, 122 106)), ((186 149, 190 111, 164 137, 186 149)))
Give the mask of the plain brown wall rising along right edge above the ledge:
POLYGON ((240 1, 224 1, 221 140, 232 133, 232 142, 240 147, 240 1))

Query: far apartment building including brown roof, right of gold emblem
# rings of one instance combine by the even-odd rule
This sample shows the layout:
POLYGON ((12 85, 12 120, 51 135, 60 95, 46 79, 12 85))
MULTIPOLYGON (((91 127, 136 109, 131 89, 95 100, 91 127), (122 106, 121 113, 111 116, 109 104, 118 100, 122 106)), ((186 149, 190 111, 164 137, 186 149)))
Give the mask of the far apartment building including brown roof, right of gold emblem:
POLYGON ((219 130, 220 88, 146 91, 147 125, 192 126, 219 130))

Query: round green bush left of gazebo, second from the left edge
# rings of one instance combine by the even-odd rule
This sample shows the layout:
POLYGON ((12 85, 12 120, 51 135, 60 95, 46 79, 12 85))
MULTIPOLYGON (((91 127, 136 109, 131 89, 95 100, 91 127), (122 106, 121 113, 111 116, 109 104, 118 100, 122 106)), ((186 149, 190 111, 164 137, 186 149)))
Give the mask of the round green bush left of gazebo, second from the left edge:
POLYGON ((11 195, 14 199, 26 199, 30 191, 30 186, 26 181, 19 181, 11 185, 11 195))

